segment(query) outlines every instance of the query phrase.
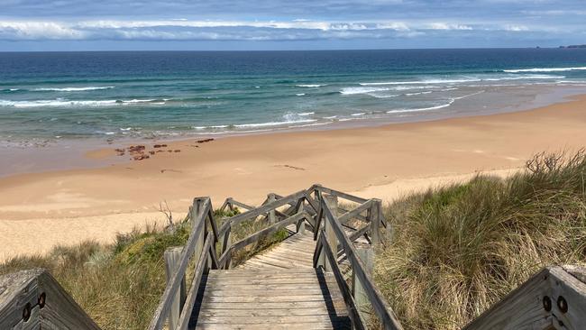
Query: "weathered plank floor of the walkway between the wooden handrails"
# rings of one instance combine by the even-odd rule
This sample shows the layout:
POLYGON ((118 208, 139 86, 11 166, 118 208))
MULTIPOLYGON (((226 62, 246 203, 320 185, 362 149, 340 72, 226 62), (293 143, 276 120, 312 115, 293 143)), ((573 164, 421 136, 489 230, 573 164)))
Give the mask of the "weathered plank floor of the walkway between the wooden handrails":
POLYGON ((311 233, 294 234, 233 270, 210 270, 196 329, 349 329, 332 273, 313 268, 311 233))

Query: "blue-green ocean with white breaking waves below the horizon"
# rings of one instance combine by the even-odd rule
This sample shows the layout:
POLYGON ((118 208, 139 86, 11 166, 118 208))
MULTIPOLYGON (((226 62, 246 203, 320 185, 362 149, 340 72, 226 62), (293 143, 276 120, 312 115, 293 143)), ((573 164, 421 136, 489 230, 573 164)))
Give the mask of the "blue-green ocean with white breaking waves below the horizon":
POLYGON ((586 93, 586 49, 0 53, 0 141, 413 122, 586 93))

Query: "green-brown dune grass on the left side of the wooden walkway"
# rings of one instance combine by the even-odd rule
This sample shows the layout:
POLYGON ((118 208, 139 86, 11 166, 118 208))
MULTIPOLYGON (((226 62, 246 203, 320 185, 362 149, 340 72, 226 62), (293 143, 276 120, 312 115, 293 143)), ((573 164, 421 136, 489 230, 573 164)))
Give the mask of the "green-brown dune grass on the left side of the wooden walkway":
MULTIPOLYGON (((218 226, 238 214, 215 211, 218 226)), ((233 240, 241 240, 266 227, 264 221, 246 221, 233 227, 233 240)), ((188 241, 191 226, 176 224, 173 231, 147 226, 119 234, 111 245, 92 241, 56 246, 46 255, 15 257, 0 263, 0 275, 17 270, 44 268, 60 282, 78 304, 105 330, 145 329, 167 284, 163 253, 188 241)), ((279 231, 237 253, 236 263, 287 237, 279 231)), ((195 261, 190 262, 191 268, 195 261)), ((192 269, 188 269, 192 271, 192 269)))

